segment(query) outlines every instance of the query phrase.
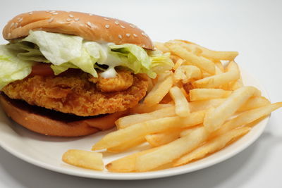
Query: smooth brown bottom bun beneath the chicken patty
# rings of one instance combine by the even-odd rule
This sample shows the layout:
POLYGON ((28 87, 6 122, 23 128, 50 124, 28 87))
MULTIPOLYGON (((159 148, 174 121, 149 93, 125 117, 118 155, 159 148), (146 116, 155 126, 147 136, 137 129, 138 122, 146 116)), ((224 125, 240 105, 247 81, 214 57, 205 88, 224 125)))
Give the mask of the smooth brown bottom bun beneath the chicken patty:
POLYGON ((114 127, 118 118, 128 114, 128 111, 123 111, 108 115, 80 117, 31 106, 25 101, 10 99, 4 94, 0 94, 0 104, 16 123, 39 134, 55 137, 78 137, 108 130, 114 127))

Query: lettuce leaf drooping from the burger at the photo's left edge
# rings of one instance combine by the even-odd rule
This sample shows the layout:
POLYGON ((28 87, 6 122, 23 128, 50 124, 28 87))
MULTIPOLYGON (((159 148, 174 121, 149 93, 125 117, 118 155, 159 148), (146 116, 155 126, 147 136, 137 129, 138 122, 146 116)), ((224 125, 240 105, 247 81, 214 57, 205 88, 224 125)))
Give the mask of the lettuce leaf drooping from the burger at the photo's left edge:
POLYGON ((0 45, 0 89, 16 80, 22 80, 31 73, 30 61, 21 60, 16 52, 8 49, 6 45, 0 45))

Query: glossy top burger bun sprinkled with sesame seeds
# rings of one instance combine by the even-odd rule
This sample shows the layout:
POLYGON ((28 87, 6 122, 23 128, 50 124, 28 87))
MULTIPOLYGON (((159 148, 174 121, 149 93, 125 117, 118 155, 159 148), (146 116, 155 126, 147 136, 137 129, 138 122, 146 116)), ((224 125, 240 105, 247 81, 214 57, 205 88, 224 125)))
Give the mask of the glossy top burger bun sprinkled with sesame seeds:
POLYGON ((3 30, 6 40, 29 35, 30 30, 44 30, 80 36, 94 42, 136 44, 154 49, 151 39, 135 25, 123 20, 71 11, 33 11, 10 20, 3 30))

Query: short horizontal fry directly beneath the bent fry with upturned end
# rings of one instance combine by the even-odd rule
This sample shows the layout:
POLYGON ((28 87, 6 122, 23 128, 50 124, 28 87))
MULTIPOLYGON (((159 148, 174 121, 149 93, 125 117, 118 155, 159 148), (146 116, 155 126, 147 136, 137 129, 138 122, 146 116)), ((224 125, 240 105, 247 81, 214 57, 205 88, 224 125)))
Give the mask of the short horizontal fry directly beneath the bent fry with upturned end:
POLYGON ((217 98, 226 98, 231 95, 231 91, 223 89, 192 89, 190 90, 190 101, 201 101, 217 98))

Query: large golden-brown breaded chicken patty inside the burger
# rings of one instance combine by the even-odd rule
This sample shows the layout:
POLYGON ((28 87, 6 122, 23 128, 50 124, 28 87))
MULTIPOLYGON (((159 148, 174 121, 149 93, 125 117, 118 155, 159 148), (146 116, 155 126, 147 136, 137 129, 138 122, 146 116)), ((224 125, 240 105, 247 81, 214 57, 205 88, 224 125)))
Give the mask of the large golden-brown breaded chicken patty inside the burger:
MULTIPOLYGON (((118 79, 104 82, 106 88, 115 88, 117 83, 122 83, 118 79)), ((102 92, 89 80, 87 73, 79 72, 58 76, 32 75, 8 84, 2 91, 11 99, 22 99, 30 105, 90 116, 125 111, 135 106, 145 96, 147 87, 147 75, 139 74, 133 75, 128 89, 102 92)))

